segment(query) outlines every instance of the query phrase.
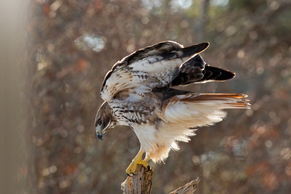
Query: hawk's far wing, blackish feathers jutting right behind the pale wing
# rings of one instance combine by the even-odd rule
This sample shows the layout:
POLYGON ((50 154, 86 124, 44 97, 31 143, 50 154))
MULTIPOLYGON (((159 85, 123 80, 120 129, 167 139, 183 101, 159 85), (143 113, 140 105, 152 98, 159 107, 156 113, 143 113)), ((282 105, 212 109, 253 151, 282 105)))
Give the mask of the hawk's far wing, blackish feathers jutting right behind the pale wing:
POLYGON ((169 87, 192 83, 226 81, 234 77, 234 72, 211 67, 205 63, 200 55, 196 55, 183 64, 178 76, 169 84, 169 87))

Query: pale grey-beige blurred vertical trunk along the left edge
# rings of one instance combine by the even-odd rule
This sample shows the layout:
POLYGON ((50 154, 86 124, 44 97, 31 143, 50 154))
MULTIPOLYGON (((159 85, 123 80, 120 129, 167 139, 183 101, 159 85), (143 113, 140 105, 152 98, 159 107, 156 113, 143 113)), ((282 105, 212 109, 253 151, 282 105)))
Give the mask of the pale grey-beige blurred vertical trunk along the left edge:
POLYGON ((0 193, 24 193, 27 175, 24 104, 27 2, 0 2, 0 193))

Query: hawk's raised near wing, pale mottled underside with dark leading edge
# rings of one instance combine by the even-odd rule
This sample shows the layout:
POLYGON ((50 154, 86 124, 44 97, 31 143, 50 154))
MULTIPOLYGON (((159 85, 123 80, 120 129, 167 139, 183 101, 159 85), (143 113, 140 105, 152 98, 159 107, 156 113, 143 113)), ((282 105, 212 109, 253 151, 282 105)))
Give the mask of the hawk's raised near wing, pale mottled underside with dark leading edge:
POLYGON ((137 50, 117 62, 107 73, 101 97, 108 101, 128 88, 150 92, 153 88, 165 87, 177 77, 184 62, 208 46, 209 43, 201 43, 183 48, 176 42, 166 41, 137 50))

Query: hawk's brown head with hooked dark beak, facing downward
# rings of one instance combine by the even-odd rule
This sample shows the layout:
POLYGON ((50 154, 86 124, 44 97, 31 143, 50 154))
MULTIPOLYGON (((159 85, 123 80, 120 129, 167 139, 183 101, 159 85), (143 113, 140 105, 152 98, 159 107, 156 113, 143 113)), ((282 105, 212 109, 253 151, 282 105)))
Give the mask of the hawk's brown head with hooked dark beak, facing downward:
POLYGON ((95 127, 97 137, 102 139, 103 134, 106 132, 108 128, 112 128, 116 125, 116 120, 114 119, 114 115, 112 114, 112 109, 108 105, 107 102, 104 102, 96 115, 95 127))

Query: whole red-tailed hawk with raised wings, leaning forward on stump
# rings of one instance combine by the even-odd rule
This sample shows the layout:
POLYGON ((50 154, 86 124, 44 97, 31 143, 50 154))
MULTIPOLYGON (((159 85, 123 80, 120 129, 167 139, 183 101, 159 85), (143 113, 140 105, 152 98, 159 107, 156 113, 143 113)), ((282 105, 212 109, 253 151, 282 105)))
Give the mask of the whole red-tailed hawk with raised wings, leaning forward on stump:
POLYGON ((105 101, 96 116, 99 139, 116 125, 135 132, 140 150, 126 173, 134 174, 137 164, 165 160, 178 142, 188 142, 194 127, 212 125, 226 116, 222 109, 249 108, 244 94, 201 94, 173 89, 192 83, 226 81, 235 73, 211 67, 199 55, 209 43, 184 48, 166 41, 139 49, 115 63, 101 88, 105 101), (145 152, 145 158, 142 154, 145 152))

